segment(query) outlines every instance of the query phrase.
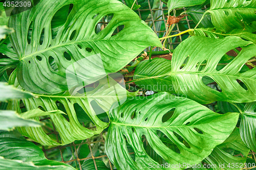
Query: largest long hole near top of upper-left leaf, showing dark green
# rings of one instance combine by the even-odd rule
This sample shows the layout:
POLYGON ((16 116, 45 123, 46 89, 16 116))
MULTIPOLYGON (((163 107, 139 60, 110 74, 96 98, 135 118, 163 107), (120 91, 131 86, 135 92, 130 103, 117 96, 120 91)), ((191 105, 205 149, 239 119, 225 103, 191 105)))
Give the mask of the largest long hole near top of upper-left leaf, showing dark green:
POLYGON ((55 39, 59 29, 65 25, 73 6, 73 4, 63 6, 54 14, 51 20, 52 39, 55 39))

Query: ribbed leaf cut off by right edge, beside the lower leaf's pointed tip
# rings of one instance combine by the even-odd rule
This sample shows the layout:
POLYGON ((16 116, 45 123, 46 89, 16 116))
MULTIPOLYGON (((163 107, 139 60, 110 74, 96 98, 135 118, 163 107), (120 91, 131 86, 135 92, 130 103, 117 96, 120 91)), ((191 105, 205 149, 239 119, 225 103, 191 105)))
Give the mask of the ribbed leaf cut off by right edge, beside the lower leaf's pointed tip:
POLYGON ((247 103, 242 112, 241 138, 248 148, 256 152, 256 103, 247 103))

